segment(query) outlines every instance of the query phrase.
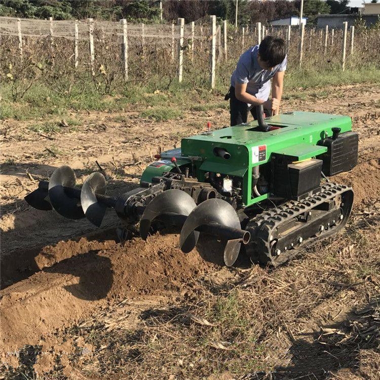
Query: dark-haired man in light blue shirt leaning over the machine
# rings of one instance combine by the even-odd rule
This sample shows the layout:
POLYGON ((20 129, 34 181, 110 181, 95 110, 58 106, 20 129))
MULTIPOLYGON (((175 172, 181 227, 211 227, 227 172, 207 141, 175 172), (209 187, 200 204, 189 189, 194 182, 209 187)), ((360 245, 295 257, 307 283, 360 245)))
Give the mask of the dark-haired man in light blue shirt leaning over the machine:
POLYGON ((260 45, 240 56, 231 75, 231 126, 247 122, 248 110, 256 120, 256 105, 262 104, 266 116, 278 115, 286 70, 286 45, 279 37, 268 35, 260 45), (272 84, 272 99, 269 98, 272 84))

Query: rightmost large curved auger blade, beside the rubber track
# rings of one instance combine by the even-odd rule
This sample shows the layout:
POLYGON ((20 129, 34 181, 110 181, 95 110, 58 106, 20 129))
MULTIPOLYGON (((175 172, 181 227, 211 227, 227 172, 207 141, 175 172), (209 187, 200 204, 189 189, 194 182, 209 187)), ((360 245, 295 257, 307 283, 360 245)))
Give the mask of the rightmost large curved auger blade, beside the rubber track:
MULTIPOLYGON (((232 231, 241 231, 236 211, 222 199, 209 199, 200 203, 185 220, 179 238, 179 246, 183 252, 190 252, 196 245, 196 242, 194 243, 191 238, 196 229, 209 232, 212 235, 221 235, 220 237, 223 238, 224 234, 222 232, 228 231, 228 228, 232 231), (217 234, 218 228, 220 229, 220 234, 217 234)), ((246 234, 248 234, 249 239, 249 233, 246 234)), ((224 262, 226 265, 231 266, 238 257, 242 240, 229 240, 228 237, 226 240, 228 242, 224 249, 224 262)))

